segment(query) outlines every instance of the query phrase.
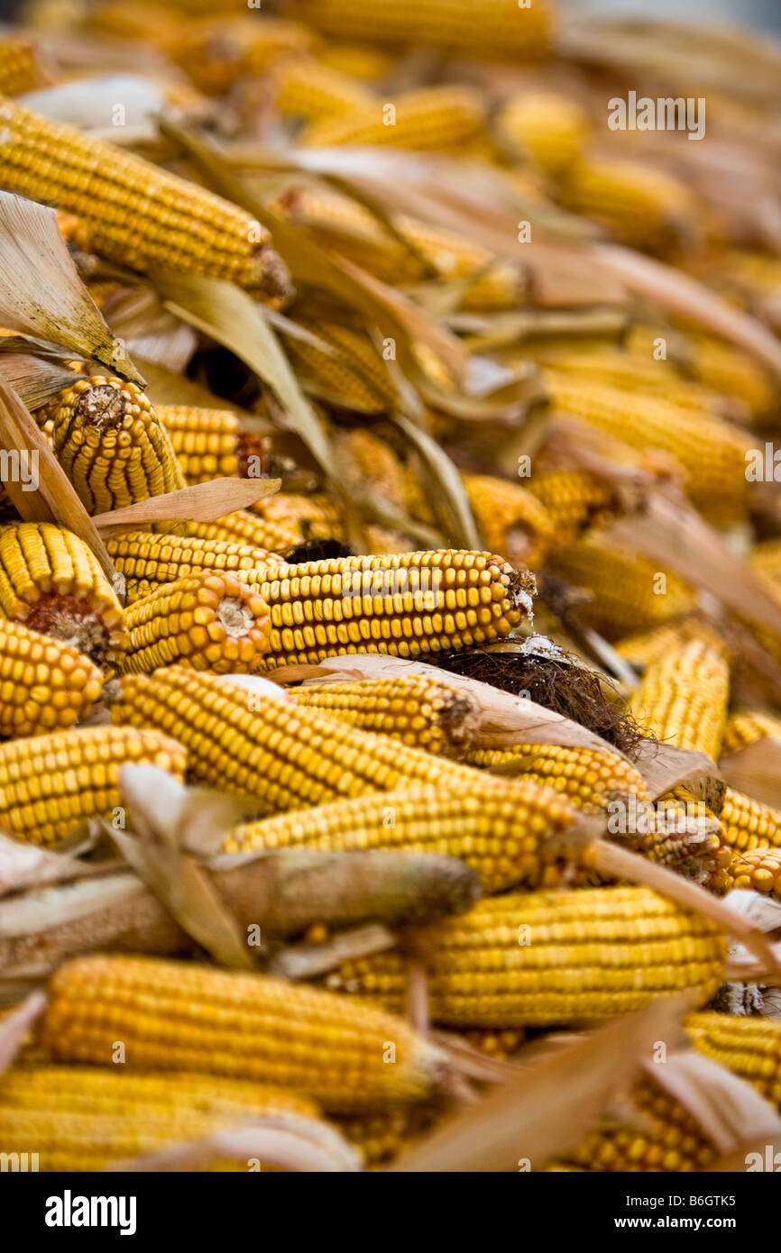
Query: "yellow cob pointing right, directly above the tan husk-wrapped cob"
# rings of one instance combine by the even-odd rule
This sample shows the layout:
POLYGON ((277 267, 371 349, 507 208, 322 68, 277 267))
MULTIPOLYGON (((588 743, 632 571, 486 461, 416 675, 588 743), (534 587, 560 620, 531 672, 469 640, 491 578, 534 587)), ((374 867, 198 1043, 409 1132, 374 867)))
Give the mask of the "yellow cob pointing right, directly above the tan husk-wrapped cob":
POLYGON ((458 789, 410 788, 337 801, 234 827, 226 852, 395 848, 459 857, 486 892, 539 886, 543 863, 562 852, 574 811, 548 788, 513 779, 461 779, 458 789), (545 842, 557 841, 553 852, 545 842))

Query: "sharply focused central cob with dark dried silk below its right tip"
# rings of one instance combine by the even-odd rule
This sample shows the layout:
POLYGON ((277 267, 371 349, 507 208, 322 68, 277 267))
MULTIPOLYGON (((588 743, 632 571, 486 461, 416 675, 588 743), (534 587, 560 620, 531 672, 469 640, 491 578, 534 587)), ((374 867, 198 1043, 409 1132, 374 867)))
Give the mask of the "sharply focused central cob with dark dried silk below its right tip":
POLYGON ((243 575, 271 609, 263 669, 355 650, 420 657, 501 639, 532 605, 533 579, 458 549, 332 558, 243 575))

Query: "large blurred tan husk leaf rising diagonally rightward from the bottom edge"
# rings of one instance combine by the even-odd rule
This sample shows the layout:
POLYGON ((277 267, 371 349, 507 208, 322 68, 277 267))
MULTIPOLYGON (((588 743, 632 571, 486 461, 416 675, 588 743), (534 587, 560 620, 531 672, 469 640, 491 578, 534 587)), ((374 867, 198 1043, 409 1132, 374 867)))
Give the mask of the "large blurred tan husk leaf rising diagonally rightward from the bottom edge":
POLYGON ((445 1123, 389 1172, 510 1172, 522 1159, 542 1170, 583 1139, 688 1007, 689 997, 666 997, 563 1045, 445 1123))

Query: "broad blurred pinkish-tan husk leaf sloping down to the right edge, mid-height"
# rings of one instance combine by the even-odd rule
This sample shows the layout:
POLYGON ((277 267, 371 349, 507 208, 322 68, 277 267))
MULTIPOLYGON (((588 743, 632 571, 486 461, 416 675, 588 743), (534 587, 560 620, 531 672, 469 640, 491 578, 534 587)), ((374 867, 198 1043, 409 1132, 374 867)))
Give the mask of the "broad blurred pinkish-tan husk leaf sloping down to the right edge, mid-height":
POLYGON ((663 563, 741 618, 781 634, 777 600, 723 536, 672 487, 649 492, 642 514, 619 519, 604 534, 663 563))

